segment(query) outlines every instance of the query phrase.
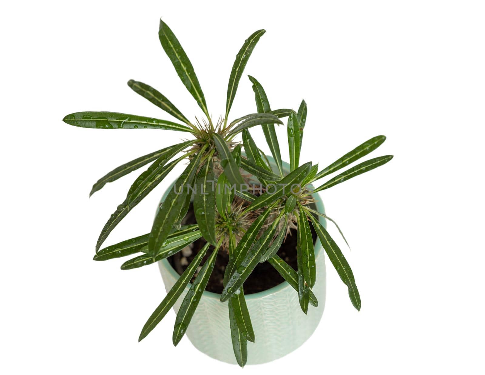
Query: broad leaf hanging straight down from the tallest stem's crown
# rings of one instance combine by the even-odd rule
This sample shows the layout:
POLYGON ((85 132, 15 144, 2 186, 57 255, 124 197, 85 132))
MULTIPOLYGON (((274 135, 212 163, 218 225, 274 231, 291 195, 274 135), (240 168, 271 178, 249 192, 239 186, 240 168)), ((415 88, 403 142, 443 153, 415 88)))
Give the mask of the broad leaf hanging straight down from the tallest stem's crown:
POLYGON ((195 184, 194 212, 202 236, 206 241, 216 244, 215 238, 215 189, 212 156, 199 173, 195 184))

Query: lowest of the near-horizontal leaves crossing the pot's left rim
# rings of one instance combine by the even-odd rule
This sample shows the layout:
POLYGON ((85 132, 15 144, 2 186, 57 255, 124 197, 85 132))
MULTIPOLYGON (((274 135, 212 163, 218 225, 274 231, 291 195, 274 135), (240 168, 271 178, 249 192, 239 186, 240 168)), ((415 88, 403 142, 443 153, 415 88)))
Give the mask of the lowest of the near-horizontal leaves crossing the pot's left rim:
POLYGON ((195 240, 200 239, 201 236, 202 234, 200 231, 196 230, 185 235, 169 238, 163 243, 160 249, 158 249, 155 255, 149 253, 147 246, 146 250, 140 249, 146 254, 127 260, 121 265, 121 269, 131 270, 133 268, 139 268, 147 266, 148 264, 156 263, 159 260, 178 253, 184 247, 190 245, 195 240))

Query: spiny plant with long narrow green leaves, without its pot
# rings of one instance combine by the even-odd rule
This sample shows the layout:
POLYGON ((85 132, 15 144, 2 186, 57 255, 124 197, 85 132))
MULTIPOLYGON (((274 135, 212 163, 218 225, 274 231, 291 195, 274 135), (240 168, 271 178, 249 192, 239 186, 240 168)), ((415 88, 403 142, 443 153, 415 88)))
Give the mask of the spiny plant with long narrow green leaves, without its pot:
POLYGON ((360 297, 352 270, 339 246, 319 222, 318 216, 330 221, 331 219, 312 208, 312 194, 379 167, 392 158, 387 155, 367 160, 313 188, 311 184, 316 180, 367 155, 379 147, 386 137, 375 136, 369 139, 320 171, 318 165, 312 165, 311 162, 300 165, 300 150, 307 119, 305 101, 302 101, 298 111, 271 110, 262 85, 252 76, 249 76, 249 80, 255 93, 256 112, 228 121, 243 70, 264 33, 264 30, 258 30, 251 34, 237 53, 227 86, 226 112, 218 121, 213 122, 210 116, 187 54, 163 21, 160 21, 159 30, 162 47, 202 110, 205 116, 203 120, 190 121, 162 93, 134 80, 128 82, 133 91, 160 107, 176 121, 114 112, 77 112, 64 118, 70 125, 85 128, 162 129, 185 132, 192 136, 190 140, 132 160, 110 171, 94 184, 90 195, 106 183, 151 163, 135 179, 126 199, 118 205, 101 230, 94 259, 107 260, 136 254, 137 256, 121 266, 122 270, 129 270, 172 256, 197 239, 206 240, 205 246, 195 255, 148 318, 139 337, 141 341, 160 323, 195 276, 178 310, 173 332, 173 343, 177 345, 194 315, 202 291, 207 286, 218 253, 227 252, 229 261, 224 275, 221 302, 228 301, 230 335, 240 366, 244 366, 247 360, 247 341, 255 342, 243 284, 258 263, 269 262, 281 274, 298 293, 300 306, 305 313, 309 304, 318 304, 311 290, 316 282, 316 263, 310 225, 348 287, 352 304, 357 310, 360 309, 360 297), (288 117, 289 170, 283 168, 275 131, 275 124, 283 124, 281 119, 285 117, 288 117), (249 128, 254 126, 262 127, 275 160, 274 170, 249 132, 249 128), (242 143, 236 139, 240 135, 242 143), (150 232, 101 248, 108 235, 129 211, 184 160, 188 161, 188 165, 159 206, 150 232), (259 184, 259 195, 254 194, 255 184, 259 184), (182 225, 191 201, 197 223, 182 225), (297 270, 276 254, 291 229, 296 229, 297 235, 297 270), (200 266, 208 252, 207 260, 200 266))

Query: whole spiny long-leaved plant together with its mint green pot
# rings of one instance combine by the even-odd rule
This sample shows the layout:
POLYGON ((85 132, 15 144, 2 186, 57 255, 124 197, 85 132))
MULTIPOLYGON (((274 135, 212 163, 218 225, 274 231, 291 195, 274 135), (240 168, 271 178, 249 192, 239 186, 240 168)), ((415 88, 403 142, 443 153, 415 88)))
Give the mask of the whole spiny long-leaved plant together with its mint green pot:
POLYGON ((317 192, 392 158, 364 161, 314 188, 315 181, 379 147, 385 136, 369 139, 322 170, 311 162, 300 165, 306 103, 302 101, 297 112, 271 110, 263 87, 251 76, 257 111, 228 121, 243 70, 264 33, 251 34, 238 52, 229 77, 226 112, 218 121, 211 119, 194 68, 163 21, 162 47, 205 119, 190 121, 162 93, 133 80, 128 82, 131 89, 176 121, 113 112, 77 112, 64 118, 70 125, 87 128, 162 129, 191 136, 132 160, 94 184, 91 194, 151 163, 103 227, 94 259, 134 255, 122 264, 122 270, 158 262, 167 295, 148 318, 139 340, 174 307, 174 345, 187 333, 199 350, 240 366, 279 358, 314 331, 324 303, 322 248, 348 287, 352 304, 360 309, 352 270, 325 229, 325 219, 330 218, 317 192), (275 124, 283 124, 282 118, 288 118, 289 164, 281 160, 276 139, 275 124), (254 126, 262 127, 272 157, 256 145, 249 131, 254 126), (188 165, 162 198, 149 233, 102 248, 131 208, 182 161, 188 165))

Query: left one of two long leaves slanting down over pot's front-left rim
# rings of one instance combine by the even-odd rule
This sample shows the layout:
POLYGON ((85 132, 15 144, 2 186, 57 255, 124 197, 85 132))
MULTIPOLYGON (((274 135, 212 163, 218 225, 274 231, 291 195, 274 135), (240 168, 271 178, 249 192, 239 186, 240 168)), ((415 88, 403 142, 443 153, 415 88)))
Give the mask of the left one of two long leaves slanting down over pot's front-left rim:
POLYGON ((210 243, 207 242, 205 246, 197 253, 192 262, 190 262, 185 271, 175 282, 172 289, 170 289, 165 298, 163 298, 162 303, 150 315, 142 328, 142 332, 140 333, 138 341, 142 341, 146 337, 146 335, 148 335, 152 331, 152 329, 155 328, 156 325, 162 321, 166 313, 174 306, 175 302, 178 300, 178 297, 180 297, 180 294, 182 294, 182 292, 185 290, 185 287, 192 279, 192 276, 194 276, 195 270, 202 261, 202 258, 207 253, 209 245, 210 243))

